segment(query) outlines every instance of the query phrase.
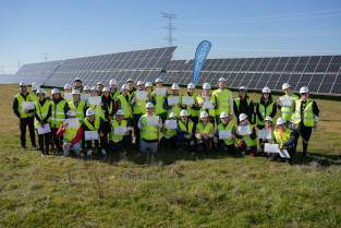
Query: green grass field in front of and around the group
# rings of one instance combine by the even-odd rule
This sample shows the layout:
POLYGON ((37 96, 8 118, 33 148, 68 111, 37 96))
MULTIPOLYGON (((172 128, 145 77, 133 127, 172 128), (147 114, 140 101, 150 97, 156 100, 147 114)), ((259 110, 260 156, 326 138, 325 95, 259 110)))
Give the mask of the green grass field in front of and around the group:
POLYGON ((19 87, 0 91, 2 227, 341 226, 340 101, 316 99, 319 129, 294 166, 215 152, 77 159, 21 151, 19 87))

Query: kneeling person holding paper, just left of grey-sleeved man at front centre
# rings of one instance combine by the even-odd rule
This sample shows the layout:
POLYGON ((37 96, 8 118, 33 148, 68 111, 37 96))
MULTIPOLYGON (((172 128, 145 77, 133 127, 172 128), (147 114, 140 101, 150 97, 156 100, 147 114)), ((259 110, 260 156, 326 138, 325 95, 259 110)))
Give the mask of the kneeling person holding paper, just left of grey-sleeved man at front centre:
POLYGON ((124 112, 118 110, 115 118, 110 121, 110 133, 109 133, 109 148, 110 153, 118 152, 120 145, 123 146, 123 152, 129 153, 132 148, 132 128, 123 120, 124 112), (118 133, 118 128, 125 128, 125 132, 118 133))

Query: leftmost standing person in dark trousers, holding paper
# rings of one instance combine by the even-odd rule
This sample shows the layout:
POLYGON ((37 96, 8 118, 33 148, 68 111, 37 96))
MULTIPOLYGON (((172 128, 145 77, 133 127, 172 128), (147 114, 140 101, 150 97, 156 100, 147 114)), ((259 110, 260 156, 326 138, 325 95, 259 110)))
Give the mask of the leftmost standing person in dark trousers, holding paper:
POLYGON ((21 93, 15 95, 13 99, 13 112, 19 118, 20 122, 20 140, 22 144, 22 149, 26 149, 26 127, 28 125, 29 139, 33 149, 37 149, 36 145, 36 135, 34 128, 34 110, 24 110, 23 103, 31 100, 31 94, 27 92, 27 84, 25 82, 21 82, 19 84, 21 93))

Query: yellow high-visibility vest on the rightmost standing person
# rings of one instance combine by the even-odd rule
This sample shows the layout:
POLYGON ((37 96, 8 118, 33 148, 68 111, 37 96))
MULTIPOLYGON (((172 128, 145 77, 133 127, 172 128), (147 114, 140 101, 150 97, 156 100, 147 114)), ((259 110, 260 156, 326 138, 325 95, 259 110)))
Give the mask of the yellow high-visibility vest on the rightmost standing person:
MULTIPOLYGON (((297 124, 302 121, 302 119, 301 119, 301 104, 302 104, 302 100, 299 99, 296 101, 296 110, 295 110, 295 116, 294 116, 294 120, 293 120, 294 124, 297 124)), ((303 124, 305 127, 314 127, 315 125, 315 118, 314 118, 314 112, 313 112, 313 100, 310 98, 308 98, 306 104, 305 104, 305 109, 304 109, 304 113, 303 113, 303 124)))

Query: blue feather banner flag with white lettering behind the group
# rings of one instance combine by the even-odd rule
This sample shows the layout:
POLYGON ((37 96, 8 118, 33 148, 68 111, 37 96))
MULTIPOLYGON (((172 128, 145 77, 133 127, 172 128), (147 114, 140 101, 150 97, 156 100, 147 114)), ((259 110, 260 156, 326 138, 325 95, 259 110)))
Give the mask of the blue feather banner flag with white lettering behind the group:
POLYGON ((192 82, 194 84, 196 84, 197 80, 199 79, 200 71, 206 61, 210 47, 211 47, 211 44, 207 40, 204 40, 196 48, 196 52, 194 57, 194 65, 193 65, 193 79, 192 79, 192 82))

